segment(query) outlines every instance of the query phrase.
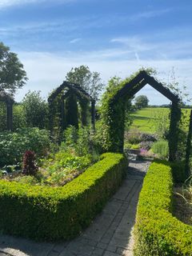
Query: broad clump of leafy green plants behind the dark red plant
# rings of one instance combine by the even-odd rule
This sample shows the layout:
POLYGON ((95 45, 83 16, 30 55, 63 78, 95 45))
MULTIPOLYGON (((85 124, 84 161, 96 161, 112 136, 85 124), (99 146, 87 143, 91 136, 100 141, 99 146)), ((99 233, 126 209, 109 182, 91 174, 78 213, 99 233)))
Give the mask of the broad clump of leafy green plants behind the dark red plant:
POLYGON ((50 149, 47 130, 22 128, 16 132, 0 133, 0 166, 12 165, 22 161, 26 150, 34 151, 38 156, 45 156, 50 149))

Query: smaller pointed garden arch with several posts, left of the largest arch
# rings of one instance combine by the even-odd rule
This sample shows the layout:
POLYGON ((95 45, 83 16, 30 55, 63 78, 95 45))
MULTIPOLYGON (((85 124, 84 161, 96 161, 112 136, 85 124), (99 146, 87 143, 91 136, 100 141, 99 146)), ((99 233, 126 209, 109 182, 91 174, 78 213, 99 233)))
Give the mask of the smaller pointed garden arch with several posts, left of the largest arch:
POLYGON ((53 131, 53 109, 55 104, 55 99, 58 98, 59 102, 59 108, 60 108, 60 127, 61 130, 65 130, 66 124, 65 124, 65 101, 70 95, 73 94, 77 97, 78 102, 82 109, 82 125, 86 126, 86 110, 89 103, 91 103, 91 123, 92 128, 95 128, 95 100, 86 92, 86 90, 83 90, 81 86, 75 83, 70 82, 63 82, 61 86, 58 86, 56 90, 52 94, 50 94, 50 97, 48 98, 49 103, 49 110, 50 110, 50 131, 53 131))

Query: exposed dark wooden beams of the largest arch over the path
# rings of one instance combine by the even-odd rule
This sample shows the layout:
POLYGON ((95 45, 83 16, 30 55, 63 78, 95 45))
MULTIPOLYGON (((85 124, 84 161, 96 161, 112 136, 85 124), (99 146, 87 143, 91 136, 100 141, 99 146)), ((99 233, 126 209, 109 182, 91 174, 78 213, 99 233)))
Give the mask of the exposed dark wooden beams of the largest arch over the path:
MULTIPOLYGON (((170 133, 169 133, 169 160, 174 161, 176 159, 176 154, 178 150, 178 123, 181 118, 181 109, 179 106, 180 99, 178 95, 172 93, 168 88, 162 85, 161 82, 155 80, 152 76, 142 70, 136 75, 130 82, 127 82, 122 89, 118 90, 117 94, 114 95, 111 101, 111 108, 115 109, 114 106, 118 101, 126 100, 127 98, 132 98, 134 94, 137 94, 146 84, 152 86, 155 90, 158 90, 160 94, 168 98, 171 104, 170 110, 170 133)), ((118 125, 118 124, 116 124, 118 125)), ((121 126, 121 125, 120 125, 121 126)), ((123 129, 122 136, 124 134, 124 127, 118 127, 123 129)), ((123 150, 123 137, 120 138, 122 143, 118 145, 118 151, 123 150)))

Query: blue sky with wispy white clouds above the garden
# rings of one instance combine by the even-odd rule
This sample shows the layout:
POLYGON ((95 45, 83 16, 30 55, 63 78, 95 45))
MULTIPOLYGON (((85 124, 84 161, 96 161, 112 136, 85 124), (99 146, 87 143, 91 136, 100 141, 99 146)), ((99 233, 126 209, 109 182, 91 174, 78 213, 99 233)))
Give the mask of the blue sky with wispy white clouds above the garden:
MULTIPOLYGON (((141 66, 167 82, 174 67, 192 88, 190 0, 0 0, 0 41, 18 54, 29 81, 18 91, 46 97, 73 66, 87 65, 104 82, 141 66)), ((168 102, 146 86, 150 104, 168 102)))

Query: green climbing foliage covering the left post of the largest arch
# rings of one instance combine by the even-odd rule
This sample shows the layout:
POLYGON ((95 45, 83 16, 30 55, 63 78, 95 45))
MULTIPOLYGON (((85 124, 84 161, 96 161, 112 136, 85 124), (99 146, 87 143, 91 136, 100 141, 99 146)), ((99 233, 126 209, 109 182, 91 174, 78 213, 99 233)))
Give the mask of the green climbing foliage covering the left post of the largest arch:
MULTIPOLYGON (((106 88, 106 92, 102 97, 101 118, 103 128, 103 148, 113 152, 122 152, 123 137, 126 120, 126 104, 129 95, 123 95, 114 102, 114 97, 126 83, 130 82, 140 72, 130 75, 129 78, 119 82, 118 78, 112 78, 106 88), (118 82, 117 82, 118 79, 118 82)), ((146 70, 148 74, 153 73, 153 70, 146 70)))

